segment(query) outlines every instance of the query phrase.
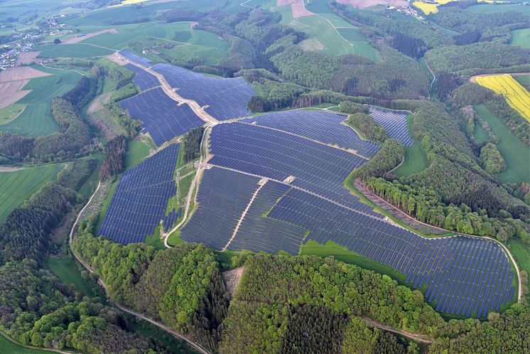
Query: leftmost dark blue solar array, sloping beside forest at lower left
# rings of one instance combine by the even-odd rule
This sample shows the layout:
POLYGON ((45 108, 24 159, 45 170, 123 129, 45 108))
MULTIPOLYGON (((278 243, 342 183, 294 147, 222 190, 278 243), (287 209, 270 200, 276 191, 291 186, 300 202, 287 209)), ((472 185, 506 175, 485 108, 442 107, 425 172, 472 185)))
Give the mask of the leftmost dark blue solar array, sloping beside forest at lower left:
POLYGON ((179 144, 125 171, 112 195, 99 235, 121 244, 144 242, 152 235, 177 189, 173 173, 179 144))

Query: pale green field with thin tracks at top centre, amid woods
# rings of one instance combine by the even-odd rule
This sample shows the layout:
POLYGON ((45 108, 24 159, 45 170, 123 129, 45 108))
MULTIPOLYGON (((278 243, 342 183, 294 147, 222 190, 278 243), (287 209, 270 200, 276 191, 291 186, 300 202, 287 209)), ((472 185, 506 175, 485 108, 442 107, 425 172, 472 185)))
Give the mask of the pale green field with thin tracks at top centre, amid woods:
MULTIPOLYGON (((320 7, 322 6, 319 5, 313 9, 320 9, 320 7)), ((352 26, 335 14, 325 12, 295 19, 291 14, 290 6, 277 6, 275 9, 282 16, 281 23, 307 33, 308 39, 317 39, 324 46, 320 53, 331 56, 355 54, 372 60, 379 60, 379 53, 367 43, 367 39, 362 36, 357 27, 352 26), (347 37, 342 36, 341 32, 345 33, 347 37)))

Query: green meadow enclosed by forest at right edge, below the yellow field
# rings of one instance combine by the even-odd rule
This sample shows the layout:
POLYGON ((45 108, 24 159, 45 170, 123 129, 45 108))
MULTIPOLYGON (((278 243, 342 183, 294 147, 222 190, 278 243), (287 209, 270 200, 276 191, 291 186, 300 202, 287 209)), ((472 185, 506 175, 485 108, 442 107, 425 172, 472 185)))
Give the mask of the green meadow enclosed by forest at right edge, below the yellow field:
POLYGON ((484 104, 475 106, 475 111, 480 114, 492 132, 499 136, 497 145, 499 152, 506 161, 506 171, 497 173, 497 178, 503 183, 520 183, 530 181, 530 149, 515 136, 490 109, 484 104))

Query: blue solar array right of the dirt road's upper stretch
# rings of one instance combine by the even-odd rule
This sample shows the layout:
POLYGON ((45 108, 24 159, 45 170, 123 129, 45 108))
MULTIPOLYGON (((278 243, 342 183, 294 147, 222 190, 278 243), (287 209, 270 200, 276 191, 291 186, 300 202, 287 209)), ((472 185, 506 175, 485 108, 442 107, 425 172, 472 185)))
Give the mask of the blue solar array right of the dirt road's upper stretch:
POLYGON ((242 77, 216 78, 168 64, 153 65, 153 70, 161 73, 173 88, 178 88, 180 97, 194 100, 205 111, 219 120, 245 117, 252 96, 256 95, 252 86, 242 77))

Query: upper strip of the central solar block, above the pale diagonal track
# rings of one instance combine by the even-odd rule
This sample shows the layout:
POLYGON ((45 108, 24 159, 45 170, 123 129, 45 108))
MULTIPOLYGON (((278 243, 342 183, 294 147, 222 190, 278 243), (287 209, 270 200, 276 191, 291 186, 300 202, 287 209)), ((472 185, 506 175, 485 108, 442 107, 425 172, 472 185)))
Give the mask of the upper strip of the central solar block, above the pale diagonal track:
POLYGON ((353 149, 362 156, 374 156, 380 148, 379 144, 361 139, 355 130, 343 123, 346 118, 343 114, 324 110, 298 109, 261 114, 243 119, 242 122, 280 129, 325 144, 337 144, 344 149, 353 149))

